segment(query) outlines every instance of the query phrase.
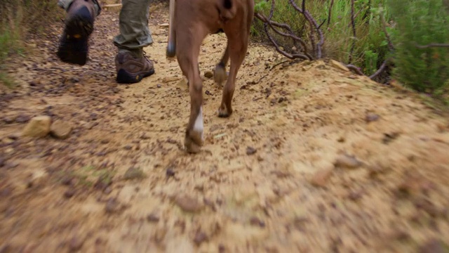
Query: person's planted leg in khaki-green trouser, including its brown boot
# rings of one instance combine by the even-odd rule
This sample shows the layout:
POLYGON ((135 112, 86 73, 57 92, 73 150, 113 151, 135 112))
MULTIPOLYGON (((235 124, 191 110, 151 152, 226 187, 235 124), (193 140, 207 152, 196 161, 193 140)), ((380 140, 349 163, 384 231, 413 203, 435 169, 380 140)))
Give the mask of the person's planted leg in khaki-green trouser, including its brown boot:
POLYGON ((154 74, 153 63, 143 48, 153 43, 148 28, 150 0, 123 0, 120 11, 120 34, 114 37, 118 48, 115 58, 119 83, 136 83, 154 74))

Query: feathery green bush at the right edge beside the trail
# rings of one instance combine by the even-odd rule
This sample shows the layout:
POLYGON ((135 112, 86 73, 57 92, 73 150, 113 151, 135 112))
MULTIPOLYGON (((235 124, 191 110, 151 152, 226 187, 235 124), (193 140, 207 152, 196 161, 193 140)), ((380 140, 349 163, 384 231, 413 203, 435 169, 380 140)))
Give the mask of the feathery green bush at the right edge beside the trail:
POLYGON ((411 88, 441 96, 449 84, 449 11, 441 0, 389 0, 396 32, 394 77, 411 88))

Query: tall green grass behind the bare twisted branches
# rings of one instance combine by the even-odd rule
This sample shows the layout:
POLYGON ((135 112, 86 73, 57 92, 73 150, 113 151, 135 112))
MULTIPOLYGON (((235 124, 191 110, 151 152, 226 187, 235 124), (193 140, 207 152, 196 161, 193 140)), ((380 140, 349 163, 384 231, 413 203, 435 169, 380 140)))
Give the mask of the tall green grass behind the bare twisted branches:
MULTIPOLYGON (((269 15, 271 1, 256 0, 256 11, 261 11, 264 15, 269 15), (262 4, 264 3, 264 4, 262 4)), ((299 1, 300 2, 300 1, 299 1)), ((384 20, 389 20, 389 13, 382 8, 385 0, 358 0, 355 3, 356 37, 354 38, 351 28, 351 1, 334 0, 330 10, 330 1, 306 1, 306 9, 315 18, 316 22, 323 25, 321 30, 325 37, 323 45, 323 57, 340 60, 349 63, 352 44, 355 43, 352 52, 351 63, 361 67, 366 74, 373 74, 383 63, 389 48, 384 34, 384 20), (330 11, 330 20, 328 15, 330 11)), ((298 3, 298 1, 297 1, 298 3)), ((304 20, 302 14, 295 11, 290 3, 276 1, 273 20, 290 25, 298 37, 309 41, 309 24, 304 20)), ((274 32, 270 32, 276 41, 283 48, 292 53, 292 47, 298 48, 292 39, 281 37, 274 32)), ((252 36, 258 40, 267 40, 264 32, 263 22, 255 20, 252 29, 252 36)), ((307 50, 312 50, 308 45, 307 50)))

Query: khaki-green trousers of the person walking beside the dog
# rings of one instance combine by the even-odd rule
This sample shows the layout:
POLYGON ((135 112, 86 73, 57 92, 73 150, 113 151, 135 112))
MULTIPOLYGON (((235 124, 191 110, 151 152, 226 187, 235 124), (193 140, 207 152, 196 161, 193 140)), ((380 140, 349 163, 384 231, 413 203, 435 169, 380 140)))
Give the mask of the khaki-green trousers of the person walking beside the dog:
MULTIPOLYGON (((72 1, 58 0, 58 6, 67 10, 72 1)), ((82 1, 82 0, 81 0, 82 1)), ((148 28, 149 2, 151 0, 122 0, 119 16, 120 34, 114 37, 114 45, 119 51, 130 51, 135 56, 142 56, 143 48, 153 43, 152 35, 148 28)), ((95 5, 97 15, 100 14, 100 6, 95 5)))

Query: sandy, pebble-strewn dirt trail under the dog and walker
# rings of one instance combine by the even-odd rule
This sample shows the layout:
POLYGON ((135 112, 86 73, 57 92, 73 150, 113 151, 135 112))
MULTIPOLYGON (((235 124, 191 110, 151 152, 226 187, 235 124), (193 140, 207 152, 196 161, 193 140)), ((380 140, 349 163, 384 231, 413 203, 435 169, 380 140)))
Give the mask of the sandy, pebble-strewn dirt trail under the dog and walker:
MULTIPOLYGON (((251 44, 229 119, 204 78, 206 144, 187 155, 189 96, 165 58, 166 13, 154 8, 156 74, 139 84, 114 82, 118 15, 107 10, 88 65, 55 58, 61 27, 29 41, 43 56, 12 63, 22 88, 0 99, 0 252, 437 252, 449 242, 447 118, 331 63, 275 66, 285 59, 251 44), (36 115, 72 134, 19 137, 36 115)), ((202 73, 222 39, 204 41, 202 73)))

